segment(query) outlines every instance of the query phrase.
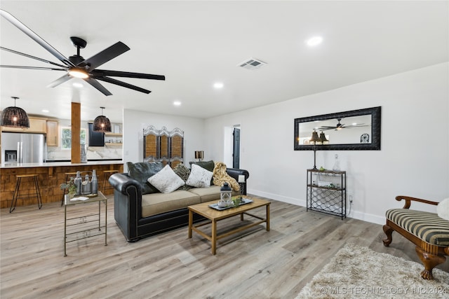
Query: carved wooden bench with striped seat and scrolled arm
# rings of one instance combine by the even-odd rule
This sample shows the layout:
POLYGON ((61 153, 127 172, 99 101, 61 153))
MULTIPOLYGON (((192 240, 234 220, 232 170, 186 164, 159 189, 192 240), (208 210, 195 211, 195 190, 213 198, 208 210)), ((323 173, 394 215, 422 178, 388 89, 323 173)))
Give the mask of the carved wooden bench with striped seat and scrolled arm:
POLYGON ((406 204, 402 209, 389 209, 386 212, 387 224, 383 229, 387 239, 383 240, 384 246, 391 243, 394 230, 403 235, 416 245, 416 253, 424 264, 421 277, 434 279, 432 270, 445 262, 445 256, 449 256, 449 221, 436 213, 409 209, 411 201, 434 205, 438 202, 408 196, 396 196, 396 200, 406 200, 406 204))

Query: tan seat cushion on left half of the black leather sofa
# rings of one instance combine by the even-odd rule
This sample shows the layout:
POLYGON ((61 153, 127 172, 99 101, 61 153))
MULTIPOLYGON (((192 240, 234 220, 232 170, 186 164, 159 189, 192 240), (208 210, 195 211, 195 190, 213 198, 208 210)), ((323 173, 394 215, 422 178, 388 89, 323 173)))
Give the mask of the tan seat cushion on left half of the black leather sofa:
POLYGON ((185 209, 189 205, 199 203, 201 203, 199 195, 185 190, 142 195, 142 217, 185 209))

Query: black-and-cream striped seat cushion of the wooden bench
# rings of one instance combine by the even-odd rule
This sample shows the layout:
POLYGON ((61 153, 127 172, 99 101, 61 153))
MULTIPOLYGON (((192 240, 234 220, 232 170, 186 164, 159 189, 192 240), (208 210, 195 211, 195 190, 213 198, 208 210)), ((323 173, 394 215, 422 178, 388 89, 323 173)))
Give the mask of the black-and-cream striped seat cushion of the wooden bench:
POLYGON ((436 213, 412 209, 389 209, 385 214, 410 234, 436 246, 449 246, 449 221, 436 213))

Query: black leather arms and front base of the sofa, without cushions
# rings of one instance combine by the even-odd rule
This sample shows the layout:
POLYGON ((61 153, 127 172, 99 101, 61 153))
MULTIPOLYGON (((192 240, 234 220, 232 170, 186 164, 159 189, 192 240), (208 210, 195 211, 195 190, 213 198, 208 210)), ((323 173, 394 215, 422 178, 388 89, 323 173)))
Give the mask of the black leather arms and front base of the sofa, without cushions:
MULTIPOLYGON (((245 181, 249 177, 249 172, 244 169, 227 168, 227 174, 237 181, 239 175, 244 175, 245 181)), ((187 207, 142 218, 142 186, 128 174, 113 174, 109 183, 114 187, 114 218, 128 242, 189 224, 187 207)), ((243 194, 246 194, 246 185, 243 194)), ((194 214, 194 222, 203 219, 194 214)))

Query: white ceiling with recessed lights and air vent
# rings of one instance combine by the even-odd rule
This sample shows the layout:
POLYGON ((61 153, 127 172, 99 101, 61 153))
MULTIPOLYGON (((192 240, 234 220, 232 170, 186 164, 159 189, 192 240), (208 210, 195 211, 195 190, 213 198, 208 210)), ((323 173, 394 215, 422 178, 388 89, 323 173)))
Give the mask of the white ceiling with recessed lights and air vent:
MULTIPOLYGON (((47 88, 60 71, 0 69, 1 105, 29 114, 70 118, 81 102, 82 120, 105 106, 112 122, 123 109, 208 118, 281 102, 447 62, 448 1, 4 1, 8 11, 66 57, 70 36, 88 41, 84 58, 122 41, 131 50, 100 69, 165 75, 166 81, 119 78, 149 95, 102 83, 105 97, 72 79, 47 88), (305 41, 322 36, 311 48, 305 41), (267 65, 236 67, 255 57, 267 65), (220 81, 224 88, 216 90, 220 81), (182 102, 173 106, 173 102, 182 102), (41 112, 48 109, 49 113, 41 112)), ((58 62, 4 18, 0 44, 58 62)), ((1 64, 49 67, 0 52, 1 64)))

